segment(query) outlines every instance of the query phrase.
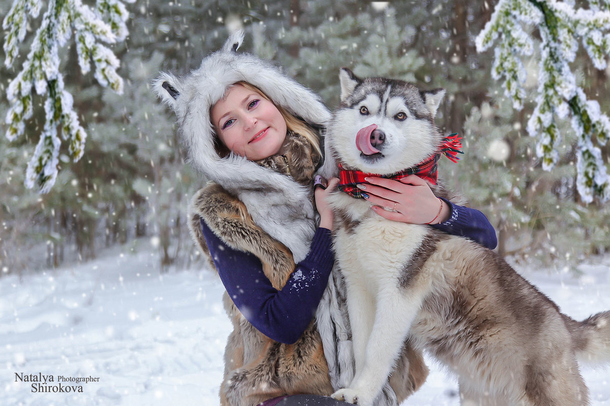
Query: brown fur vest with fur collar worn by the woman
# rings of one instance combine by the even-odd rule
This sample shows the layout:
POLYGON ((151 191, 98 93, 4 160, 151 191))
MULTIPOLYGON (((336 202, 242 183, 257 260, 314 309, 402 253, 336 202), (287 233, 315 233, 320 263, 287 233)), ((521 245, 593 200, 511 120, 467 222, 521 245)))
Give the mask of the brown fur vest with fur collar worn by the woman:
MULTIPOLYGON (((287 136, 284 147, 285 154, 257 163, 277 173, 290 172, 295 182, 311 192, 311 179, 320 156, 312 153, 309 142, 298 135, 287 136)), ((201 218, 229 246, 252 252, 260 258, 265 276, 274 288, 284 287, 295 266, 292 252, 264 232, 234 194, 217 183, 209 183, 195 194, 189 218, 192 236, 207 255, 209 252, 199 224, 201 218)), ((233 332, 224 353, 221 405, 254 406, 285 394, 332 393, 328 365, 314 322, 296 343, 281 344, 256 330, 226 292, 223 304, 233 324, 233 332)))

